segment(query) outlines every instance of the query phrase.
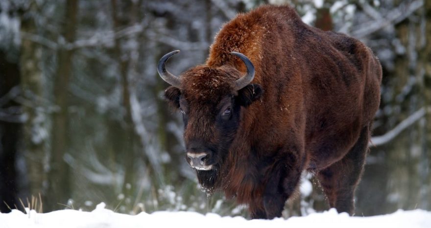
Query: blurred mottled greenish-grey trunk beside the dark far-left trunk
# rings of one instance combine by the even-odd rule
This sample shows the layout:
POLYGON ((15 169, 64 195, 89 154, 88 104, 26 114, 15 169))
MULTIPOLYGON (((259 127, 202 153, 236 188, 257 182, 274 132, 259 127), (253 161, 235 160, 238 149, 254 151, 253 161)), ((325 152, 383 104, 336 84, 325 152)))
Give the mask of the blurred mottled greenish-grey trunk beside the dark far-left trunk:
MULTIPOLYGON (((37 10, 37 5, 32 1, 29 8, 21 16, 21 53, 20 53, 20 71, 21 71, 21 89, 22 94, 31 94, 26 96, 29 104, 23 106, 23 111, 27 114, 27 121, 23 126, 24 157, 26 163, 26 172, 28 174, 29 194, 45 196, 47 175, 44 166, 47 164, 47 144, 48 136, 45 133, 48 128, 48 116, 44 108, 35 108, 39 106, 37 98, 44 97, 44 76, 42 74, 41 58, 43 48, 26 38, 25 34, 37 34, 37 25, 32 16, 32 12, 37 10)), ((48 200, 43 197, 43 202, 48 200)))

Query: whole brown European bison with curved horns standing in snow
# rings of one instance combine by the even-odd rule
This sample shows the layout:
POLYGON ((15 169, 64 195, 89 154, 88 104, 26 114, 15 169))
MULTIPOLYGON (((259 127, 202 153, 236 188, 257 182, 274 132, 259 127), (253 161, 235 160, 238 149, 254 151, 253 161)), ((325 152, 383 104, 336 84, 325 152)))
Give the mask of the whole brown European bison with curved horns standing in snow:
POLYGON ((382 80, 367 46, 267 5, 225 24, 206 63, 177 77, 165 62, 178 52, 158 71, 203 188, 272 219, 307 170, 331 207, 353 213, 382 80))

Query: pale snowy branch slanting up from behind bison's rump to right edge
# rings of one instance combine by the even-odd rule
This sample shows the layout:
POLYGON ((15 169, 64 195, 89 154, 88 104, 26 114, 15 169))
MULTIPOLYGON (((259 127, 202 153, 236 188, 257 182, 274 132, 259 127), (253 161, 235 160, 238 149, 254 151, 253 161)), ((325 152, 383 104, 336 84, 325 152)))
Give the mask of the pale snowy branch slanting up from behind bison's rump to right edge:
POLYGON ((422 107, 418 111, 408 116, 407 119, 401 121, 401 123, 399 123, 394 129, 390 130, 383 136, 371 137, 371 141, 368 143, 368 146, 380 146, 390 142, 407 127, 421 119, 427 112, 431 113, 431 107, 422 107))

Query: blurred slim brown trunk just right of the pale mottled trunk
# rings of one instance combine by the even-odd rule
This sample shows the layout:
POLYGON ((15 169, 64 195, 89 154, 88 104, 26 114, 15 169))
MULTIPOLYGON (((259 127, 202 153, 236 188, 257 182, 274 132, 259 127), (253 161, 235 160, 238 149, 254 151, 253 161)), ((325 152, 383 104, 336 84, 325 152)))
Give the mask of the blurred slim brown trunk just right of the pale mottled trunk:
MULTIPOLYGON (((67 43, 75 37, 78 0, 67 0, 62 36, 67 43)), ((49 170, 48 209, 56 209, 57 204, 67 204, 71 197, 70 167, 64 160, 68 148, 68 88, 72 74, 73 51, 60 47, 57 52, 57 70, 54 79, 54 99, 59 111, 53 114, 52 146, 49 170)))

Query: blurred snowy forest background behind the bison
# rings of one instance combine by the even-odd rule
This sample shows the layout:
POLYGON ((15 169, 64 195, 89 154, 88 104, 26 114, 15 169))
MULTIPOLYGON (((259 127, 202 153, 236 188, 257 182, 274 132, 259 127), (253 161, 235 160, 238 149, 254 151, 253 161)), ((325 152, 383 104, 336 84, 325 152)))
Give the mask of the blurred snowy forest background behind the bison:
MULTIPOLYGON (((0 209, 194 210, 246 215, 208 198, 183 153, 182 121, 163 100, 159 58, 179 74, 205 62, 223 23, 263 4, 367 44, 383 66, 382 103, 357 215, 431 209, 431 1, 2 0, 0 209), (382 137, 377 137, 382 136, 382 137)), ((304 174, 285 216, 327 209, 304 174)))

